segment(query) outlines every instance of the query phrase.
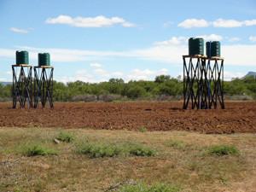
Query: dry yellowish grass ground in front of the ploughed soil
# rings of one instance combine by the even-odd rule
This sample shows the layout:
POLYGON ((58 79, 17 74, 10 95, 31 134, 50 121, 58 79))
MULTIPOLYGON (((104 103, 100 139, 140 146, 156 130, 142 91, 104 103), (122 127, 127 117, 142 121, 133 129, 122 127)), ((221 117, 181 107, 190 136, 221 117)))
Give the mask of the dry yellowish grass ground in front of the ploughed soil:
POLYGON ((70 132, 75 140, 55 144, 59 129, 0 127, 0 190, 106 191, 122 183, 120 191, 142 185, 144 191, 253 191, 255 134, 70 132), (239 148, 240 155, 208 153, 218 145, 239 148))

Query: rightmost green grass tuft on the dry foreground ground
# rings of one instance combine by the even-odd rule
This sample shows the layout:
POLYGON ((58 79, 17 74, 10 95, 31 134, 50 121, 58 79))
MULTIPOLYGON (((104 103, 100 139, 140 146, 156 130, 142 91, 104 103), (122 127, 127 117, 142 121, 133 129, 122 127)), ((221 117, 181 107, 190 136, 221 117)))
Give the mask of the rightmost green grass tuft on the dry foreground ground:
POLYGON ((207 155, 227 155, 227 154, 233 154, 233 155, 239 155, 240 151, 236 146, 234 145, 213 145, 209 148, 207 148, 207 155))

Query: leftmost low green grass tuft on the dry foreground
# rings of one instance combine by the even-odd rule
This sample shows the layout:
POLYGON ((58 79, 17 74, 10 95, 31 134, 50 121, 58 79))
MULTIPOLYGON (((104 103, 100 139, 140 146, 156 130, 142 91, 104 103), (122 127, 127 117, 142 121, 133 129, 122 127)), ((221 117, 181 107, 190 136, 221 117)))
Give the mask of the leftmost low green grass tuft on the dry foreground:
POLYGON ((22 153, 27 156, 37 156, 37 155, 54 155, 54 154, 58 154, 59 151, 53 148, 42 147, 40 145, 32 145, 32 146, 23 147, 22 153))

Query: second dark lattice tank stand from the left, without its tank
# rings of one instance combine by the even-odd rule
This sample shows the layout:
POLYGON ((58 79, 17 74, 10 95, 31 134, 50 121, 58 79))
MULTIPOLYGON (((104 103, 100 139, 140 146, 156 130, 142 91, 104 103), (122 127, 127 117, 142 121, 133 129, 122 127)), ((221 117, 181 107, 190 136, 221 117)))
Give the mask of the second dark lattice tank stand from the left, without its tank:
POLYGON ((47 101, 49 108, 53 108, 53 72, 54 67, 51 66, 34 67, 34 108, 39 107, 39 102, 44 108, 47 101))

